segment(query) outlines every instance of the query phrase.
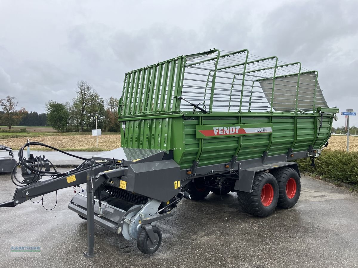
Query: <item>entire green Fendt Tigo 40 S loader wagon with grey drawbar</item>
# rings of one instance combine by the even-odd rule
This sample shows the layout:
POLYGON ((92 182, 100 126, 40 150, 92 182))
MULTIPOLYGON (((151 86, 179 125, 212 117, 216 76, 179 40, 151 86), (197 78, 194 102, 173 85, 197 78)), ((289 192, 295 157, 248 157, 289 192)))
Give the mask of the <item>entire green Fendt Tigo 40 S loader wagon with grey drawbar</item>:
POLYGON ((87 183, 87 193, 68 205, 87 219, 87 256, 93 223, 154 253, 162 236, 153 224, 172 216, 182 198, 236 192, 242 209, 258 217, 277 205, 291 208, 301 185, 290 161, 318 157, 337 119, 317 77, 299 62, 246 49, 213 49, 130 71, 118 108, 122 147, 59 173, 44 157, 23 158, 26 147, 49 147, 28 142, 19 151, 24 179, 13 173, 19 187, 0 207, 87 183))

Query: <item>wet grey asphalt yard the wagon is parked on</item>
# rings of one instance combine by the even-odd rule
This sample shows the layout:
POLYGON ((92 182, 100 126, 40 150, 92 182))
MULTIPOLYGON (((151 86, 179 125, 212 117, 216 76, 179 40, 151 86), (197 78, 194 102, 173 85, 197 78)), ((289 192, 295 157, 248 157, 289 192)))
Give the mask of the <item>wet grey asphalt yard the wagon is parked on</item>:
MULTIPOLYGON (((153 255, 96 225, 90 259, 82 257, 86 221, 67 208, 73 189, 62 189, 50 211, 31 202, 0 209, 0 267, 358 267, 358 194, 310 177, 301 183, 296 206, 267 218, 244 213, 235 193, 183 200, 174 217, 156 223, 163 242, 153 255), (28 244, 41 252, 10 253, 28 244)), ((14 190, 10 176, 0 175, 0 203, 14 190)), ((54 193, 45 196, 46 208, 54 203, 54 193)))

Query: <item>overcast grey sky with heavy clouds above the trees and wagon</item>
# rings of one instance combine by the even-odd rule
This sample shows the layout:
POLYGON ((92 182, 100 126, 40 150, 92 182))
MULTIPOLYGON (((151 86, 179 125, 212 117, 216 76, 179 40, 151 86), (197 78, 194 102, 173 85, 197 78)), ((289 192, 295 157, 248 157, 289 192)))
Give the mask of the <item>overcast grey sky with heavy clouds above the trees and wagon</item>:
POLYGON ((1 0, 0 98, 44 112, 72 100, 78 80, 120 98, 127 71, 215 47, 301 61, 329 106, 358 112, 358 1, 245 3, 1 0))

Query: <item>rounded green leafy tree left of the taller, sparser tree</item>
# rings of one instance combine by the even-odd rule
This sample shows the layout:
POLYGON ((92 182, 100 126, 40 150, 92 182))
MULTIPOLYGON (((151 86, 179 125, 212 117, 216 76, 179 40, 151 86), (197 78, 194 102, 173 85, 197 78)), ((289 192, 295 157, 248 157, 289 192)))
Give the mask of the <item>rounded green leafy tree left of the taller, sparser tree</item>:
POLYGON ((68 112, 62 103, 49 101, 46 104, 47 120, 54 130, 65 131, 67 126, 68 112))

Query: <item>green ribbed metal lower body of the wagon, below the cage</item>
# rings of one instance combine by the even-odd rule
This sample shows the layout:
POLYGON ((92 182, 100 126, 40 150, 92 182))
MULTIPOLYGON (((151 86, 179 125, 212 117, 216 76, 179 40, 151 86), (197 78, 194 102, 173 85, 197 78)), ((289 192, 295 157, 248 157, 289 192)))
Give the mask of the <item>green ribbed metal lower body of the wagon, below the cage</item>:
POLYGON ((255 114, 248 115, 196 115, 188 120, 183 117, 157 116, 125 121, 125 133, 121 133, 122 147, 173 150, 174 160, 182 169, 191 168, 198 159, 199 166, 230 162, 237 153, 237 161, 261 158, 269 147, 269 156, 287 154, 294 145, 293 152, 307 151, 322 147, 330 135, 333 115, 325 114, 322 127, 320 115, 297 114, 255 114), (295 118, 297 128, 295 128, 295 118), (268 125, 272 120, 272 133, 247 134, 241 136, 197 138, 198 125, 268 125), (315 122, 316 121, 316 122, 315 122), (295 132, 297 138, 295 142, 295 132), (318 133, 319 131, 319 133, 318 133))

